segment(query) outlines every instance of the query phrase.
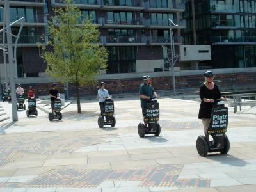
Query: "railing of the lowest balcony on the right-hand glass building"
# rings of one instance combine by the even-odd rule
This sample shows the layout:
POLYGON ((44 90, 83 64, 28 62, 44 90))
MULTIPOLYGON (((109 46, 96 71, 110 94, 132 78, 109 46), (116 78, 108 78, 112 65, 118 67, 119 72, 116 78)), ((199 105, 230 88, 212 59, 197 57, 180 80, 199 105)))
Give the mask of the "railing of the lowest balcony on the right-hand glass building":
POLYGON ((256 43, 256 36, 214 36, 212 37, 212 43, 256 43))

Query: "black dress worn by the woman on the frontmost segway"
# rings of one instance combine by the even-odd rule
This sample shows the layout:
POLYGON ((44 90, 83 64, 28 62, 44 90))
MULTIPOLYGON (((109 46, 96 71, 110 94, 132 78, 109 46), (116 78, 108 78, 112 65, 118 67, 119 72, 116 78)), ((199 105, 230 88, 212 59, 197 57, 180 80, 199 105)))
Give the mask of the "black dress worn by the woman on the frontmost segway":
POLYGON ((216 84, 214 84, 214 88, 212 90, 209 90, 205 86, 205 84, 202 84, 200 86, 200 99, 201 99, 201 104, 200 104, 200 109, 199 109, 199 114, 198 118, 211 118, 211 113, 212 113, 212 107, 213 104, 211 102, 204 102, 203 99, 220 99, 221 93, 216 84))

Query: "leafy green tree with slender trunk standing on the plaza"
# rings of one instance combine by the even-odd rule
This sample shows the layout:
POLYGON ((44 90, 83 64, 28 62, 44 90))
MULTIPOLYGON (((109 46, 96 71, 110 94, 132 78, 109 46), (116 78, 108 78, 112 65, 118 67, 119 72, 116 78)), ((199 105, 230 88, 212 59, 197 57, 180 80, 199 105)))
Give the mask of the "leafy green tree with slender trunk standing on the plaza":
POLYGON ((65 8, 58 8, 55 13, 49 22, 52 51, 39 45, 41 56, 50 76, 63 83, 75 84, 77 112, 81 113, 79 87, 96 82, 100 70, 106 68, 108 52, 99 45, 99 30, 89 18, 83 20, 80 10, 70 0, 66 1, 65 8))

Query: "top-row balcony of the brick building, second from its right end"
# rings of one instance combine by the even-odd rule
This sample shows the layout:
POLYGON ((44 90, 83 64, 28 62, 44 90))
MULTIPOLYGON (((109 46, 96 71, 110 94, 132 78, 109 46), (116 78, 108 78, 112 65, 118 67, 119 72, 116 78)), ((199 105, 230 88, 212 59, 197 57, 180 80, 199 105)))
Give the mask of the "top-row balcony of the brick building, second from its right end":
POLYGON ((131 1, 131 3, 129 4, 125 4, 125 2, 116 2, 116 1, 108 1, 108 0, 104 0, 103 1, 103 5, 102 5, 102 10, 136 10, 136 11, 140 11, 143 10, 143 1, 136 1, 133 0, 131 1))

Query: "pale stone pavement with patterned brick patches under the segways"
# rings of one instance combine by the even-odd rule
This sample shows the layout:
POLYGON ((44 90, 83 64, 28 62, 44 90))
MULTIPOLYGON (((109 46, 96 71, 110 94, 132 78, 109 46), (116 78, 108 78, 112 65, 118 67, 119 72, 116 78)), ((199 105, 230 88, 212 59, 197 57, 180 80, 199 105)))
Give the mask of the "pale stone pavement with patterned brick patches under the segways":
MULTIPOLYGON (((97 126, 99 104, 0 122, 0 191, 256 191, 256 109, 229 108, 230 152, 200 157, 199 103, 158 99, 160 136, 140 138, 138 98, 115 99, 116 127, 97 126)), ((1 102, 11 115, 10 104, 1 102)), ((10 117, 10 119, 12 119, 10 117)))

